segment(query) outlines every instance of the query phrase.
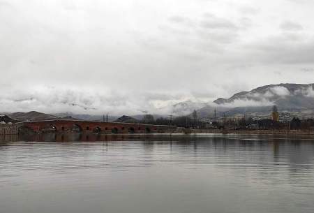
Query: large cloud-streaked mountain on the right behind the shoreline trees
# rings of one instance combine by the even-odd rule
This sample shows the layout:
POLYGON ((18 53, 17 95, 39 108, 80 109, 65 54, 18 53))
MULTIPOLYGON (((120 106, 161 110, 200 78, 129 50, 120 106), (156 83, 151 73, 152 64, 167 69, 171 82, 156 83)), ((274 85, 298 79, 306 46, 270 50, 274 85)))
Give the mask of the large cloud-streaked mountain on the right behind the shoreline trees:
POLYGON ((212 105, 198 110, 200 117, 237 116, 244 113, 251 116, 269 116, 271 106, 286 116, 312 117, 314 112, 313 84, 279 84, 258 87, 251 91, 241 91, 230 98, 218 98, 212 105))

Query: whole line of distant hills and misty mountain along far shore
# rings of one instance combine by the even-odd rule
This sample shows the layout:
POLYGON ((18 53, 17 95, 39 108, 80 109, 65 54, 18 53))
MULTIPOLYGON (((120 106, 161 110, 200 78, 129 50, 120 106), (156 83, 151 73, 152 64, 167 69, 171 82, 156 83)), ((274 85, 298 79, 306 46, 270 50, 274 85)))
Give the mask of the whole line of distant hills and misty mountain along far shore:
MULTIPOLYGON (((314 117, 314 84, 279 84, 257 87, 251 91, 240 91, 230 98, 218 98, 213 102, 184 101, 172 105, 171 114, 174 116, 191 115, 197 110, 200 119, 213 117, 270 117, 271 108, 277 105, 282 118, 291 117, 308 118, 314 117)), ((84 119, 103 121, 103 115, 73 114, 71 112, 49 115, 41 112, 15 112, 7 114, 14 121, 31 121, 56 118, 84 119)), ((140 120, 144 115, 133 117, 108 116, 108 121, 140 120)), ((168 117, 168 115, 154 115, 168 117)))

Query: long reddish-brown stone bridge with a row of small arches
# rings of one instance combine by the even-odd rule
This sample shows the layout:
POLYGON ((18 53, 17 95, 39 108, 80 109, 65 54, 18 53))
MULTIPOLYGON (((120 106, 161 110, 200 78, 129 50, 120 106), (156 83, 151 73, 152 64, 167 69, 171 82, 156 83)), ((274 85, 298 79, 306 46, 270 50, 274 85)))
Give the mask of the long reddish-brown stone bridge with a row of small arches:
POLYGON ((177 128, 177 126, 117 122, 91 122, 71 119, 20 122, 16 125, 20 131, 33 131, 36 133, 173 133, 177 128))

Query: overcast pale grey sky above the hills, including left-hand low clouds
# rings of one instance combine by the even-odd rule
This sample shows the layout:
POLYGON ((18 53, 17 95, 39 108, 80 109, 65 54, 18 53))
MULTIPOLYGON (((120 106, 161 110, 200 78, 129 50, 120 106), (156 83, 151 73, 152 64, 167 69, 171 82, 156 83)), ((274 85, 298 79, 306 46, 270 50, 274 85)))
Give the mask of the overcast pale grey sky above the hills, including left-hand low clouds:
POLYGON ((167 114, 314 82, 314 1, 0 0, 0 112, 167 114))

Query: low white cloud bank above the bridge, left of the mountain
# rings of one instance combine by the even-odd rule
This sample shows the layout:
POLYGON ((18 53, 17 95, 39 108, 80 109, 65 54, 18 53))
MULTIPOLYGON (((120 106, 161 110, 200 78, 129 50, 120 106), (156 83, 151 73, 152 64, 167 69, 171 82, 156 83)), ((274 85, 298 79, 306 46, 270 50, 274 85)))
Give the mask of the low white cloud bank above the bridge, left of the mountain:
MULTIPOLYGON (((189 97, 193 98, 193 97, 189 97)), ((182 115, 192 108, 200 108, 195 102, 176 105, 186 101, 184 95, 119 93, 110 89, 77 87, 33 87, 24 90, 3 91, 0 112, 45 113, 73 112, 90 115, 138 115, 145 112, 158 115, 182 115), (174 112, 175 111, 175 112, 174 112)))

